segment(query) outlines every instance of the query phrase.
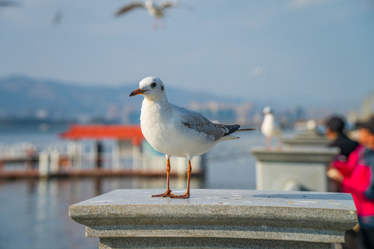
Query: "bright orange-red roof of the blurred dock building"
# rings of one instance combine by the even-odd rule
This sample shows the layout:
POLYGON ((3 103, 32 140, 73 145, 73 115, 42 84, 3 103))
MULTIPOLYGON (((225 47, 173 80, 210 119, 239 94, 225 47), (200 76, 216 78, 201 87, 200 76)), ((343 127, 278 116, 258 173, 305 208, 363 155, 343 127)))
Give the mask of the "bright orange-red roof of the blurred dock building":
POLYGON ((72 124, 67 131, 60 133, 60 138, 132 140, 133 145, 140 145, 145 139, 140 125, 123 124, 72 124))

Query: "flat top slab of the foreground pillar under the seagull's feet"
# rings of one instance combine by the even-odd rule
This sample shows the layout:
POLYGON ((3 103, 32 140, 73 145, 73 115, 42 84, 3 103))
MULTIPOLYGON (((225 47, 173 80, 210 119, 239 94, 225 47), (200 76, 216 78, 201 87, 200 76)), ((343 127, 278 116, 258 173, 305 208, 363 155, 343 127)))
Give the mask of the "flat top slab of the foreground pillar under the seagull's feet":
MULTIPOLYGON (((96 196, 87 201, 76 203, 69 207, 71 215, 84 215, 99 213, 100 210, 112 210, 122 208, 116 213, 128 213, 129 210, 137 212, 136 208, 152 206, 160 208, 161 212, 170 212, 168 208, 186 206, 190 210, 197 210, 197 206, 244 206, 246 208, 300 208, 300 209, 323 209, 323 210, 348 210, 356 211, 352 196, 344 193, 326 192, 299 192, 299 191, 267 191, 267 190, 191 190, 189 199, 170 199, 151 197, 152 194, 163 190, 114 190, 107 194, 96 196), (90 207, 87 210, 87 207, 90 207), (92 207, 95 207, 92 209, 92 207)), ((184 190, 175 190, 179 194, 184 190)), ((216 213, 218 214, 218 213, 216 213)))

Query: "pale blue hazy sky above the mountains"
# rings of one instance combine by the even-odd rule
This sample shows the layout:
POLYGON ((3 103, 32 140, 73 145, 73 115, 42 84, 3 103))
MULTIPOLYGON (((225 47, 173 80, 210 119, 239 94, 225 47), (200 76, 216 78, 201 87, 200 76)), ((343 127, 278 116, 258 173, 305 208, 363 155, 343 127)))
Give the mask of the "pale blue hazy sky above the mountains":
POLYGON ((0 8, 0 77, 167 86, 247 101, 358 109, 374 92, 374 1, 180 1, 154 28, 131 1, 0 8), (51 21, 63 13, 59 25, 51 21))

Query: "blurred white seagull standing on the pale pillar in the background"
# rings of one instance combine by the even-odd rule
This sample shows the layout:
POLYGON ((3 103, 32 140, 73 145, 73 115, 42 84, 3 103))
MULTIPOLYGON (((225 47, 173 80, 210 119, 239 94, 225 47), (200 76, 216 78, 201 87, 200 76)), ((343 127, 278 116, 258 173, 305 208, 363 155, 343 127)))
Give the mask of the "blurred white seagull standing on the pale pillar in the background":
POLYGON ((282 128, 281 124, 274 118, 273 110, 270 107, 265 107, 262 111, 264 113, 264 120, 261 124, 261 132, 266 137, 266 148, 271 148, 271 138, 278 138, 278 147, 282 148, 282 128))

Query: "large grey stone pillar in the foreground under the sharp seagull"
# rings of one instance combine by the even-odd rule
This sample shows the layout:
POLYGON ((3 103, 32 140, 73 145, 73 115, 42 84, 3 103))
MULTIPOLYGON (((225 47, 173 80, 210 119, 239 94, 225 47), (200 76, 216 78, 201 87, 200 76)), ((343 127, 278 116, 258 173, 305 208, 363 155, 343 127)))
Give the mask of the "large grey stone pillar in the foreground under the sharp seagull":
POLYGON ((331 248, 357 224, 350 194, 191 190, 190 199, 151 197, 159 192, 115 190, 71 205, 69 215, 86 225, 87 237, 100 238, 100 249, 331 248))

